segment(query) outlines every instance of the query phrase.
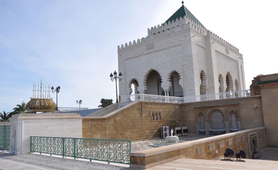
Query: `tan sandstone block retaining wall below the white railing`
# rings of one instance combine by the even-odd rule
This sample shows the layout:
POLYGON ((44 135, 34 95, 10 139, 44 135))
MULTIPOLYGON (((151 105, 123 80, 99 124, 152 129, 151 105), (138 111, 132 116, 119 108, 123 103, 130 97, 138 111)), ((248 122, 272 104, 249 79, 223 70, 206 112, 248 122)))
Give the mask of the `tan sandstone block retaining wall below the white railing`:
MULTIPOLYGON (((184 104, 163 102, 137 102, 108 118, 86 118, 82 120, 84 138, 147 140, 160 137, 160 127, 169 128, 187 126, 189 134, 196 134, 196 110, 210 110, 217 107, 236 105, 241 129, 263 127, 261 97, 222 99, 184 104), (257 108, 254 109, 254 105, 257 108), (162 111, 152 120, 151 111, 162 111)), ((159 112, 157 112, 159 113, 159 112)))

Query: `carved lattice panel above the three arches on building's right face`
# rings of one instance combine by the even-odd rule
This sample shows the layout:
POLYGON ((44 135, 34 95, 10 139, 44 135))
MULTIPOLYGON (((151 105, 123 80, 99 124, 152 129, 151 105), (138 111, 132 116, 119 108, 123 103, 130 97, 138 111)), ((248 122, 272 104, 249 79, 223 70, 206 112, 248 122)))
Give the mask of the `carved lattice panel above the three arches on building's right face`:
POLYGON ((237 79, 239 81, 238 62, 224 54, 219 53, 218 51, 215 51, 215 53, 216 53, 216 64, 217 64, 218 75, 222 74, 224 78, 225 89, 227 88, 227 84, 226 84, 227 72, 230 72, 232 76, 233 79, 232 89, 235 89, 235 80, 237 79))

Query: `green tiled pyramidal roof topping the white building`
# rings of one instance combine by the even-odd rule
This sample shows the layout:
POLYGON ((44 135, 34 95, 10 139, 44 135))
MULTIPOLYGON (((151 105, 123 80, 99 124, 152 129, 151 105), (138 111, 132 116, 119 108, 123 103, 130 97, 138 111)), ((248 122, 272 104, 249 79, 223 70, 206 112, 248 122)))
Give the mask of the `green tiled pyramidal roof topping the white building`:
MULTIPOLYGON (((172 20, 175 20, 178 18, 180 19, 180 17, 182 17, 182 19, 184 19, 184 16, 187 16, 188 18, 190 18, 191 20, 193 20, 194 22, 200 24, 202 27, 203 24, 197 20, 197 18, 184 6, 182 5, 168 20, 166 20, 165 22, 168 24, 168 22, 170 21, 170 23, 172 22, 172 20)), ((204 27, 205 28, 205 27, 204 27)))

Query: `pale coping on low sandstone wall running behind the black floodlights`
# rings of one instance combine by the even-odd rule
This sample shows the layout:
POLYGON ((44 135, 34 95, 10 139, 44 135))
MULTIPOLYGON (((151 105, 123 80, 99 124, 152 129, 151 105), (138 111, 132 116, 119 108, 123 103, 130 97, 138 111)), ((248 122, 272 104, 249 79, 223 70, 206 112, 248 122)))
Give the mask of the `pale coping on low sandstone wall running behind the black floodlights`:
POLYGON ((197 140, 193 140, 193 141, 182 142, 182 143, 168 145, 168 146, 156 147, 156 148, 147 149, 147 150, 140 150, 140 151, 136 151, 136 152, 131 152, 130 156, 147 157, 147 156, 151 156, 151 155, 157 155, 157 154, 161 154, 161 153, 165 153, 165 152, 170 152, 170 151, 173 151, 173 150, 179 150, 179 149, 187 148, 187 147, 190 147, 190 146, 193 146, 193 145, 197 145, 199 143, 210 142, 210 141, 214 141, 214 140, 217 140, 217 139, 232 137, 234 135, 253 132, 253 131, 261 130, 261 129, 265 129, 265 127, 247 129, 247 130, 242 130, 242 131, 239 131, 239 132, 226 133, 226 134, 223 134, 223 135, 207 137, 207 138, 203 138, 203 139, 197 139, 197 140))

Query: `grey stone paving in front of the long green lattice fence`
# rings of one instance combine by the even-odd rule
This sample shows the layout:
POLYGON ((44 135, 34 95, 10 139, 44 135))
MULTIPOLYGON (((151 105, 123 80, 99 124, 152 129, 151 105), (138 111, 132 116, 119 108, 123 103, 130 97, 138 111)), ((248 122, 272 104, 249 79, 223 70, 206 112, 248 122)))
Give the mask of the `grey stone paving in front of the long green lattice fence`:
MULTIPOLYGON (((89 160, 88 160, 89 161, 89 160)), ((111 164, 82 161, 82 159, 66 159, 57 156, 37 154, 10 155, 0 152, 0 169, 2 170, 129 170, 129 165, 115 166, 111 164)))

